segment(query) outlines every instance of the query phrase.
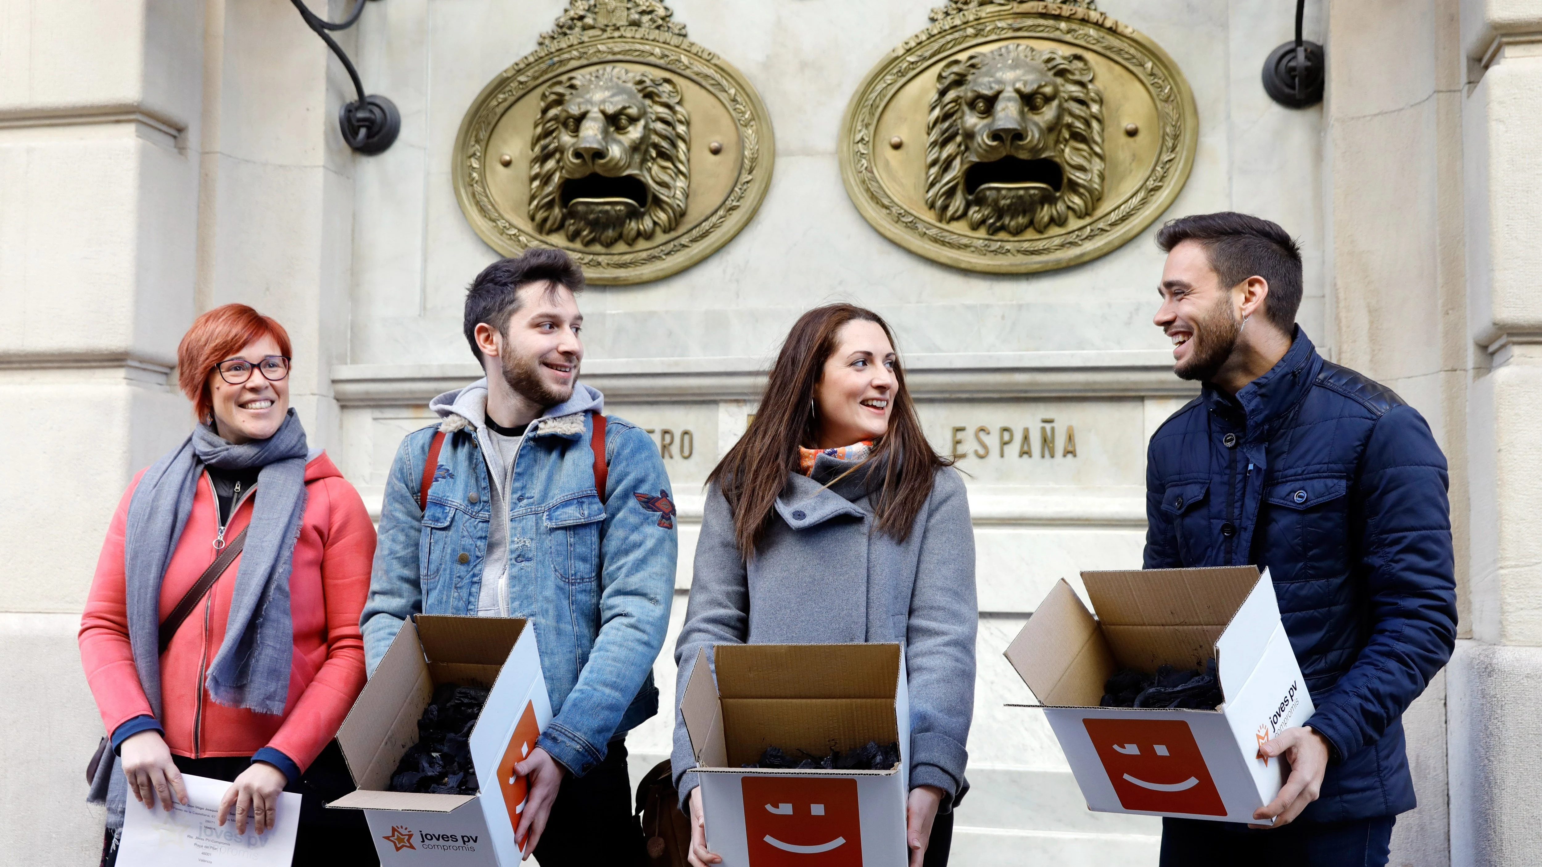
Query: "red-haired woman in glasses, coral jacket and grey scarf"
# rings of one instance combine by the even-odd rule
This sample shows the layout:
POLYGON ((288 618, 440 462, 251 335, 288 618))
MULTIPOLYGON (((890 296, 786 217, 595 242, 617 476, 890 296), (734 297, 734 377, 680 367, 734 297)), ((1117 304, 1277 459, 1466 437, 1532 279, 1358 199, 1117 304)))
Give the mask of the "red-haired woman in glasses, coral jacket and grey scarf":
POLYGON ((308 448, 288 373, 276 320, 239 303, 200 316, 177 346, 193 433, 134 477, 108 527, 80 622, 108 731, 91 781, 105 865, 128 796, 185 804, 183 773, 231 782, 219 822, 239 833, 267 832, 279 792, 301 793, 295 864, 375 861, 361 815, 322 813, 350 788, 327 747, 364 687, 375 528, 308 448))

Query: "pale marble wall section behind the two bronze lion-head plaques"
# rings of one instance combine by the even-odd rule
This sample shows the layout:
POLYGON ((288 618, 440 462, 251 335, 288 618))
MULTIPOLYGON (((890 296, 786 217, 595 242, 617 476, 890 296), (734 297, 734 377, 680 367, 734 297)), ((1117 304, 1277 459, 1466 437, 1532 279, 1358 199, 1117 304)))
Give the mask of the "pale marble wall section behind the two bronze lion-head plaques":
MULTIPOLYGON (((1113 853, 1153 862, 1158 824, 1089 815, 1042 715, 1004 707, 1033 698, 1001 651, 1056 579, 1079 587, 1084 568, 1140 564, 1146 439, 1195 393, 1172 377, 1167 340, 1150 323, 1163 254, 1152 226, 1087 265, 985 276, 916 257, 860 219, 836 157, 842 112, 868 69, 928 23, 933 5, 671 2, 689 37, 760 91, 777 142, 771 191, 749 226, 700 265, 648 285, 588 290, 584 380, 606 393, 609 411, 651 428, 666 456, 682 508, 678 628, 700 485, 754 413, 759 373, 786 328, 828 300, 882 313, 933 445, 959 454, 968 473, 976 524, 979 688, 961 862, 1007 862, 1024 847, 1078 864, 1113 853), (1047 436, 1055 447, 1044 447, 1047 436)), ((342 467, 367 502, 378 502, 401 436, 427 423, 427 399, 480 376, 460 334, 461 305, 497 254, 456 206, 455 132, 472 99, 535 48, 563 6, 390 0, 361 25, 361 72, 402 109, 398 145, 353 168, 352 334, 348 362, 333 370, 342 467)), ((1301 322, 1332 353, 1323 114, 1280 108, 1258 83, 1263 57, 1292 32, 1294 9, 1207 0, 1103 11, 1155 38, 1195 92, 1198 154, 1169 216, 1241 209, 1300 236, 1301 322)), ((1320 32, 1321 23, 1314 9, 1308 28, 1320 32)), ((671 695, 669 650, 655 678, 671 695)), ((663 758, 669 725, 662 715, 632 735, 637 768, 663 758)))

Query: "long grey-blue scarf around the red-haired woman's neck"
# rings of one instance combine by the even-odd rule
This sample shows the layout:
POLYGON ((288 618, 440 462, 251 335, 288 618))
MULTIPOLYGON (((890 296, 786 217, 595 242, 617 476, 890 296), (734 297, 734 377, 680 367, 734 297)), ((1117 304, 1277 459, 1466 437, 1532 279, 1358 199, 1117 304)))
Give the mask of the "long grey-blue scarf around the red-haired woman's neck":
MULTIPOLYGON (((305 511, 305 428, 295 410, 271 437, 242 445, 225 442, 208 425, 196 425, 180 447, 145 470, 134 488, 123 539, 128 642, 139 685, 157 718, 160 579, 193 511, 193 494, 204 467, 261 467, 225 639, 210 664, 205 685, 210 698, 222 705, 284 713, 295 653, 288 579, 305 511)), ((94 781, 91 788, 93 799, 105 796, 113 825, 111 819, 122 816, 122 807, 114 802, 122 804, 126 792, 117 761, 109 773, 109 779, 94 781), (111 793, 105 784, 111 784, 111 793)))

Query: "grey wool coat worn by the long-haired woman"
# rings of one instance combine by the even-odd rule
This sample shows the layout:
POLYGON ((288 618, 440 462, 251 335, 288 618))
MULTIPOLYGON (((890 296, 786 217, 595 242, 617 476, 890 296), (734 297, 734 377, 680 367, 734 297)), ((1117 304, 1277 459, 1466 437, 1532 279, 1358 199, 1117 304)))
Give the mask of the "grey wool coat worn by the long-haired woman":
POLYGON ((706 494, 685 628, 675 644, 675 730, 671 764, 686 804, 695 788, 680 699, 697 650, 714 644, 899 642, 910 687, 910 785, 964 796, 975 710, 975 531, 964 480, 938 470, 931 496, 904 542, 879 533, 864 467, 820 454, 813 477, 788 473, 776 517, 746 562, 717 485, 706 494))

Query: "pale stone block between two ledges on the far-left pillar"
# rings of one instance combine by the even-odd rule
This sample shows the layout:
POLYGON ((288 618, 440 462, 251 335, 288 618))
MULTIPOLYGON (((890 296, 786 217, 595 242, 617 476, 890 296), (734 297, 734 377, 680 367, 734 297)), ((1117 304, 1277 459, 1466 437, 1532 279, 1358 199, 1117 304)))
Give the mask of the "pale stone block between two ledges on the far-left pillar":
POLYGON ((196 177, 134 122, 0 128, 0 356, 176 362, 196 177), (89 328, 59 328, 91 311, 89 328))

